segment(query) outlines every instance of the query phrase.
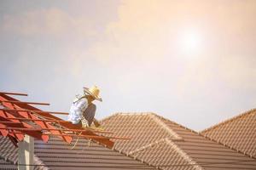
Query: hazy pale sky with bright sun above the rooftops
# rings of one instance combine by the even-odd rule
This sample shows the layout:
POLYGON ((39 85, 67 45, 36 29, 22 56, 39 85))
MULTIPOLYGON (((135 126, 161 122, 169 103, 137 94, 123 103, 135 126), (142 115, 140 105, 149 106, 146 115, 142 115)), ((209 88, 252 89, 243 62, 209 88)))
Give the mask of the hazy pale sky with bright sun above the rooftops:
MULTIPOLYGON (((254 0, 1 0, 0 91, 96 118, 154 112, 203 130, 256 106, 254 0)), ((61 116, 67 119, 67 116, 61 116)))

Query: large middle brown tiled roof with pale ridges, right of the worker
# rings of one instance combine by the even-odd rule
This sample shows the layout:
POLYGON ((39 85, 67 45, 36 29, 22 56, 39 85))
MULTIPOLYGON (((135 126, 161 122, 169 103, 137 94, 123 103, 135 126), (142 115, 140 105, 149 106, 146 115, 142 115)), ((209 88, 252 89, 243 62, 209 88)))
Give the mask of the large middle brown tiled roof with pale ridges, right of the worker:
POLYGON ((256 169, 256 161, 153 113, 118 113, 102 121, 106 130, 130 136, 114 148, 160 169, 256 169))

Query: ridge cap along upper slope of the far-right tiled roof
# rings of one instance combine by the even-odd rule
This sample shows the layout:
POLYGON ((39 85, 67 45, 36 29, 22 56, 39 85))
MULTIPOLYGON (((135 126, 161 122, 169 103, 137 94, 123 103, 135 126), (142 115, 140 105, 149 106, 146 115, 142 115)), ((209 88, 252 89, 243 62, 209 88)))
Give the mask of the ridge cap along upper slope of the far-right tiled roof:
POLYGON ((223 125, 227 124, 228 122, 236 121, 236 119, 241 118, 242 116, 247 116, 250 113, 252 113, 253 111, 256 111, 256 108, 251 109, 249 111, 242 112, 242 113, 240 113, 236 116, 232 116, 232 117, 230 117, 230 118, 228 118, 228 119, 226 119, 222 122, 218 122, 217 124, 212 125, 211 127, 207 127, 206 129, 202 130, 200 133, 207 133, 208 131, 210 131, 210 130, 216 128, 216 127, 219 127, 219 126, 223 126, 223 125))

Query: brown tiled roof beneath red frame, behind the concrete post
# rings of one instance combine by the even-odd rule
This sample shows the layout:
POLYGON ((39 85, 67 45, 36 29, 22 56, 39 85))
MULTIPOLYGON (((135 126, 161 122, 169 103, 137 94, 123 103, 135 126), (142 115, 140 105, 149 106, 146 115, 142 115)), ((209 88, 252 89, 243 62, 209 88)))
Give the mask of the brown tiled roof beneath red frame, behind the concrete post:
MULTIPOLYGON (((0 137, 0 155, 13 164, 17 163, 17 148, 9 139, 0 137)), ((76 140, 73 141, 73 144, 76 140)), ((59 138, 50 138, 48 143, 35 140, 35 169, 156 169, 142 161, 110 150, 95 142, 79 139, 75 147, 59 138)), ((3 169, 0 167, 0 169, 3 169)))

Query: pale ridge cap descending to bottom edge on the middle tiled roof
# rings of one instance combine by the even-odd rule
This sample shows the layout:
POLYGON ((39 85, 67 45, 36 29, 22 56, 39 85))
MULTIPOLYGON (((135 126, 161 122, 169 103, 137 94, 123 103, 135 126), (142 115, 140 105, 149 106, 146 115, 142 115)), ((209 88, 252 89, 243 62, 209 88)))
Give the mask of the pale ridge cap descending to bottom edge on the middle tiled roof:
POLYGON ((196 161, 194 161, 191 156, 189 156, 185 151, 183 151, 182 149, 180 149, 177 144, 175 144, 174 142, 172 142, 172 140, 170 140, 170 139, 168 139, 168 138, 166 138, 165 140, 166 140, 166 144, 171 145, 172 148, 173 148, 174 150, 176 150, 177 153, 178 153, 180 156, 182 156, 186 161, 189 162, 189 164, 195 164, 195 165, 193 165, 193 167, 195 167, 195 169, 197 169, 197 170, 203 170, 203 169, 204 169, 203 167, 201 167, 201 165, 200 165, 199 163, 197 163, 196 161))

